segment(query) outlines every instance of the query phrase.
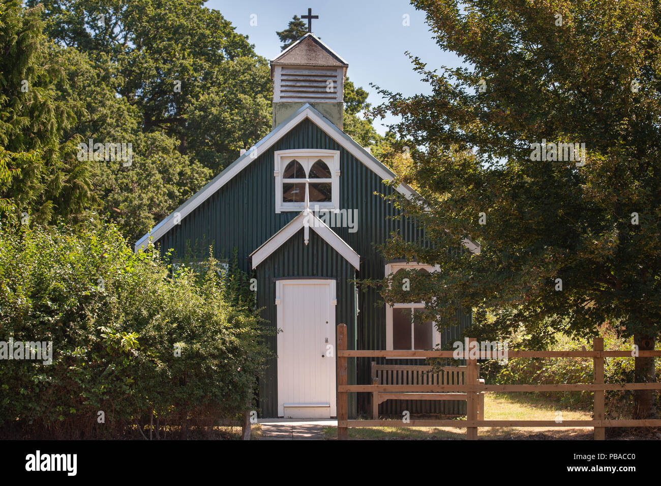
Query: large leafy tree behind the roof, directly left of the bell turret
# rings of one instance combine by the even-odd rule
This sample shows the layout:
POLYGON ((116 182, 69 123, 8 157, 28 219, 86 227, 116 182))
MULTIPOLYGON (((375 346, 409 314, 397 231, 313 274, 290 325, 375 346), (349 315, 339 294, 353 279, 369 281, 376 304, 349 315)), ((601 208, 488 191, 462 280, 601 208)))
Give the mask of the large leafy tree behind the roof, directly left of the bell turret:
MULTIPOLYGON (((36 2, 36 0, 33 0, 36 2)), ((214 173, 270 128, 268 62, 202 1, 46 1, 48 34, 116 69, 144 132, 163 131, 214 173)))

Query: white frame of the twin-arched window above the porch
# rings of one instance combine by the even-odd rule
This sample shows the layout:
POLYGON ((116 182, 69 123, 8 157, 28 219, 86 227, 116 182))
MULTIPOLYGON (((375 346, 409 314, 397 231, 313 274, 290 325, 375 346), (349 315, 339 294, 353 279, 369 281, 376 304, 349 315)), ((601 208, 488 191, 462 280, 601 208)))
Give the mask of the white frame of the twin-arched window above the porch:
MULTIPOLYGON (((340 151, 323 149, 293 149, 276 150, 274 152, 274 172, 276 179, 276 213, 285 211, 300 212, 305 209, 305 201, 302 202, 282 202, 282 174, 290 159, 297 157, 316 157, 322 159, 331 171, 331 202, 310 202, 310 207, 314 210, 315 206, 324 210, 340 209, 340 151)), ((303 167, 309 171, 309 167, 303 167)), ((315 182, 315 179, 301 179, 301 182, 309 184, 315 182)))

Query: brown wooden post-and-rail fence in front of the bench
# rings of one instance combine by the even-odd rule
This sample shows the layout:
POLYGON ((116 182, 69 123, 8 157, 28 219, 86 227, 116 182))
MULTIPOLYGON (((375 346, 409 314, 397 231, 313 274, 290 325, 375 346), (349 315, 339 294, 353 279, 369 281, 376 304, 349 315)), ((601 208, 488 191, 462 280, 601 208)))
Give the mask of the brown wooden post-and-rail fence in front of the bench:
MULTIPOLYGON (((474 338, 470 342, 476 341, 474 338)), ((490 359, 485 352, 479 357, 469 356, 467 350, 459 354, 468 366, 468 376, 463 385, 349 385, 347 383, 348 358, 454 358, 456 351, 383 351, 348 350, 346 347, 346 325, 337 327, 337 437, 348 438, 349 427, 393 426, 392 420, 349 420, 348 394, 355 392, 418 392, 418 393, 468 393, 465 420, 412 420, 399 423, 409 427, 455 427, 466 428, 467 438, 477 440, 478 427, 594 427, 594 439, 605 439, 606 427, 658 427, 661 420, 605 420, 604 392, 613 390, 661 389, 661 383, 605 384, 603 382, 604 358, 632 358, 631 350, 603 350, 603 338, 594 339, 592 351, 508 351, 508 358, 592 358, 594 360, 594 380, 592 384, 551 384, 551 385, 481 385, 477 384, 478 359, 490 359), (477 420, 478 393, 480 391, 594 391, 594 419, 570 421, 543 420, 477 420)), ((474 353, 471 353, 474 354, 474 353)), ((661 356, 661 351, 639 351, 638 356, 661 356)))

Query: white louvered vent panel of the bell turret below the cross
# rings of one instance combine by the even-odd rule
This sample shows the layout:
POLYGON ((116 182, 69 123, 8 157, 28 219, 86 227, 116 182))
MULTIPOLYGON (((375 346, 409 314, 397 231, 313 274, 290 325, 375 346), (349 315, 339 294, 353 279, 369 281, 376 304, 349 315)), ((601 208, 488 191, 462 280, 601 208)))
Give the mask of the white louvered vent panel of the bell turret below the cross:
POLYGON ((342 101, 342 74, 342 69, 278 66, 274 101, 342 101))

